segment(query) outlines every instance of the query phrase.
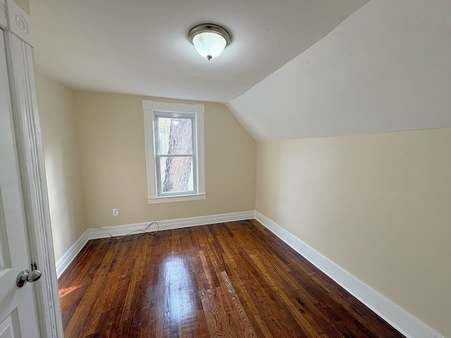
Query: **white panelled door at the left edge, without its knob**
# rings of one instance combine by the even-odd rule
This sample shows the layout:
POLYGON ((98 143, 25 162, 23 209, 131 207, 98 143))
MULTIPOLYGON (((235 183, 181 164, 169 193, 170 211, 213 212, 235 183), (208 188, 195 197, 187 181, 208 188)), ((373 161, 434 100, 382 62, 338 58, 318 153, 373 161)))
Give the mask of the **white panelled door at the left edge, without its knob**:
POLYGON ((0 30, 0 338, 39 337, 33 285, 16 286, 31 270, 3 31, 0 30))

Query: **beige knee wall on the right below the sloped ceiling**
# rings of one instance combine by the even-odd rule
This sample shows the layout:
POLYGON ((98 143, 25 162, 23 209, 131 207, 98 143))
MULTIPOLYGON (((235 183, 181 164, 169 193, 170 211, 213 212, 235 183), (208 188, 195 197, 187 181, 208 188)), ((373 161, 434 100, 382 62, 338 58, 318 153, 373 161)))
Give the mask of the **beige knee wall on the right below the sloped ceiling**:
POLYGON ((451 337, 451 129, 259 142, 256 206, 451 337))

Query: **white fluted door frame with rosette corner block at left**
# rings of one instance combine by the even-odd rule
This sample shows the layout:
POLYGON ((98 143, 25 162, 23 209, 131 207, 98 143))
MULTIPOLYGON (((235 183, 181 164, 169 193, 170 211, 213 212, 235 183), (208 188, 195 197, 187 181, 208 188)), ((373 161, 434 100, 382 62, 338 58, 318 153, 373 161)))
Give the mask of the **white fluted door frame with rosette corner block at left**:
POLYGON ((30 15, 13 0, 0 0, 30 262, 42 271, 42 278, 32 283, 39 331, 41 337, 63 337, 30 24, 30 15))

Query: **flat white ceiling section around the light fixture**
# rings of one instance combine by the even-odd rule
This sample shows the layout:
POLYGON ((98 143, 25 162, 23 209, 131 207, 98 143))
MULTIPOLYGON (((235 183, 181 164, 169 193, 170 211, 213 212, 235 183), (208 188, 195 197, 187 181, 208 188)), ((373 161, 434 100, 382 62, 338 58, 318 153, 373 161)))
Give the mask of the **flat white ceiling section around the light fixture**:
POLYGON ((368 0, 30 0, 35 65, 73 89, 226 103, 328 34, 368 0), (232 42, 206 61, 199 23, 232 42))

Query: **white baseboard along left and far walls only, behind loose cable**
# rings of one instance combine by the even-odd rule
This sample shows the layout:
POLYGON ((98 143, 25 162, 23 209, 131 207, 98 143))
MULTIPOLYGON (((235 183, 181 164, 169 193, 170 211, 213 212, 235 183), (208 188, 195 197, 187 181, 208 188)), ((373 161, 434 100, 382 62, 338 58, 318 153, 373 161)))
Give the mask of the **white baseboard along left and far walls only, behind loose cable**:
MULTIPOLYGON (((221 213, 218 215, 198 216, 190 218, 178 218, 175 220, 159 220, 160 230, 178 229, 181 227, 194 227, 197 225, 215 224, 223 222, 233 222, 235 220, 251 220, 255 218, 255 211, 241 211, 237 213, 221 213)), ((104 231, 97 228, 89 228, 75 242, 63 256, 56 262, 56 275, 59 278, 61 274, 68 268, 69 264, 78 255, 83 246, 87 244, 89 239, 99 239, 112 236, 123 236, 130 232, 139 233, 144 230, 150 222, 135 223, 128 225, 116 225, 113 227, 104 227, 104 231)), ((149 227, 148 231, 156 230, 156 225, 149 227)))

